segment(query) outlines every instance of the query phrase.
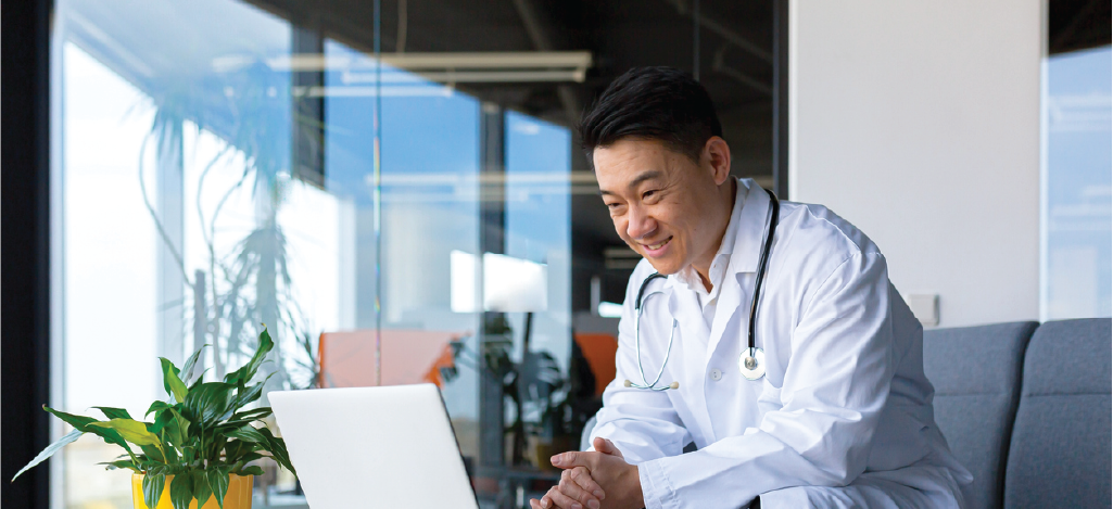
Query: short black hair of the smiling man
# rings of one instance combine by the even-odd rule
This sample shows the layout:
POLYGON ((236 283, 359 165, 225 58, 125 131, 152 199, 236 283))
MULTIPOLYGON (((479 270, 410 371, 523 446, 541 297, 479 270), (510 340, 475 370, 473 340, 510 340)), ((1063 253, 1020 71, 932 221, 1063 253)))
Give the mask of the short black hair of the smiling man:
POLYGON ((703 86, 670 67, 633 68, 611 82, 578 126, 588 163, 592 153, 623 138, 657 140, 699 161, 722 124, 703 86))

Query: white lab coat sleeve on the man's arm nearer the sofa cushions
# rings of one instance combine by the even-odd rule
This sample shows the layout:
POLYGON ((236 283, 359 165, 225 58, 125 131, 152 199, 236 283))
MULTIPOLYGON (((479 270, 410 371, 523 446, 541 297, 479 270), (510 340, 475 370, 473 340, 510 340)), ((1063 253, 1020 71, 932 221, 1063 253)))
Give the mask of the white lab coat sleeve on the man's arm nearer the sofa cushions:
POLYGON ((865 470, 896 365, 885 259, 850 256, 801 302, 782 408, 741 436, 640 465, 647 509, 737 508, 781 488, 846 486, 865 470))

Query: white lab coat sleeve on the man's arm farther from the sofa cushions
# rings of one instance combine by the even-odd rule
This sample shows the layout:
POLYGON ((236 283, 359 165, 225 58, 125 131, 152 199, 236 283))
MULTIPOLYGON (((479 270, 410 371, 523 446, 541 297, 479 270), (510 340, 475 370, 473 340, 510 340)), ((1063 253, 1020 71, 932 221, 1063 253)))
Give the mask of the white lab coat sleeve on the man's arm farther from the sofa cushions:
POLYGON ((664 391, 634 389, 622 385, 624 380, 641 380, 634 353, 633 300, 641 281, 651 273, 649 263, 641 263, 644 267, 639 266, 634 270, 622 305, 619 349, 614 359, 617 373, 603 391, 603 408, 597 415, 595 429, 591 433, 592 440, 603 437, 614 442, 623 458, 634 465, 677 456, 691 441, 691 436, 664 391))

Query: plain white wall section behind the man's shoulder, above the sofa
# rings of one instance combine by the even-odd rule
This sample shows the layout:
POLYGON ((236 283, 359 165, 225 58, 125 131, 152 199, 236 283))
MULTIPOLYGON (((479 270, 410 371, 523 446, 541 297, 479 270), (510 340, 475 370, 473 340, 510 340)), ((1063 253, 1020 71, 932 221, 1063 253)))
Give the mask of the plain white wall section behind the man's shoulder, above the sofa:
POLYGON ((940 327, 1038 318, 1043 2, 790 2, 790 198, 938 293, 940 327))

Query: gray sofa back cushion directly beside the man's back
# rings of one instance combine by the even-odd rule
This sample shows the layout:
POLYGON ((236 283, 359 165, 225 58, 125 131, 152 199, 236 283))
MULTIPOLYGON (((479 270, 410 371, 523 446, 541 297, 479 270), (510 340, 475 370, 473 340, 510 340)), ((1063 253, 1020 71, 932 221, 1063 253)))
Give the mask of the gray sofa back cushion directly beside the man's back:
POLYGON ((1036 322, 924 331, 924 372, 935 386, 935 422, 974 475, 966 507, 1001 507, 1024 349, 1036 322))

